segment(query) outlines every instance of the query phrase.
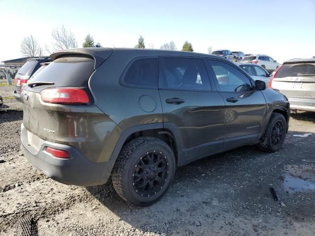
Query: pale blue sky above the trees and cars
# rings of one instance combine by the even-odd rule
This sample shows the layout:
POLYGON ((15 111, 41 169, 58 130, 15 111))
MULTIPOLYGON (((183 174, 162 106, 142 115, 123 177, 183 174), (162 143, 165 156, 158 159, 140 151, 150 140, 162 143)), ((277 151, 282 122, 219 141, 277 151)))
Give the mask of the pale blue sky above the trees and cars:
POLYGON ((194 52, 228 49, 278 62, 315 56, 315 0, 0 0, 0 61, 22 57, 33 35, 44 48, 62 25, 82 47, 90 33, 103 47, 146 48, 186 40, 194 52))

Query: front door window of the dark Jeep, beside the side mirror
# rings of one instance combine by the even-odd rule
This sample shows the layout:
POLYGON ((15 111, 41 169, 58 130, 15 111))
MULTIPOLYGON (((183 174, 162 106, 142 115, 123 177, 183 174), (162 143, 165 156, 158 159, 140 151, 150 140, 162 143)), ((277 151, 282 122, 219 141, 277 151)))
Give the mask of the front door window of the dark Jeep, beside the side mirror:
POLYGON ((242 92, 252 90, 251 81, 240 70, 222 61, 209 61, 221 91, 242 92))

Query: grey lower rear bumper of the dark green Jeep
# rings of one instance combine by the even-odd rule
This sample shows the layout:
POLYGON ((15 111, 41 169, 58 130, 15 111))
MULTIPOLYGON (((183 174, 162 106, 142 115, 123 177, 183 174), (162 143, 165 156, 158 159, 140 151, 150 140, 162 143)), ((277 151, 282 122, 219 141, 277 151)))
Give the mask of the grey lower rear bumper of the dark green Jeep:
POLYGON ((27 130, 21 125, 21 149, 34 167, 52 179, 77 186, 104 184, 110 177, 115 161, 90 162, 82 153, 71 146, 44 141, 39 150, 28 141, 27 130), (46 147, 65 150, 70 158, 61 159, 45 151, 46 147))

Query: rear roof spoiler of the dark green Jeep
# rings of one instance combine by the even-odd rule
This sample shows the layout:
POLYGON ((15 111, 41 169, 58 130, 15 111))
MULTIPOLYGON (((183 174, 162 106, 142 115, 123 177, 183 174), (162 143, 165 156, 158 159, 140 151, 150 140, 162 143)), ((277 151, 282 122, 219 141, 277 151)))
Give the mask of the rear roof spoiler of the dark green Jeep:
POLYGON ((113 48, 76 48, 54 52, 50 58, 54 61, 58 58, 71 55, 86 55, 94 58, 94 69, 100 66, 114 52, 113 48))

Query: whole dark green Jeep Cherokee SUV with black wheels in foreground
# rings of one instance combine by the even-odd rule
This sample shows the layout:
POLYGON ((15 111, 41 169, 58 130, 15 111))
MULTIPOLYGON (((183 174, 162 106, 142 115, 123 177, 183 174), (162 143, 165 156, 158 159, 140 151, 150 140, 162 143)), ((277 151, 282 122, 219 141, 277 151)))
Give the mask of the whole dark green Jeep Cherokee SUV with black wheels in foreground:
POLYGON ((146 49, 56 52, 23 89, 21 148, 47 176, 88 186, 111 176, 137 206, 155 203, 175 170, 244 145, 279 150, 284 95, 211 55, 146 49))

